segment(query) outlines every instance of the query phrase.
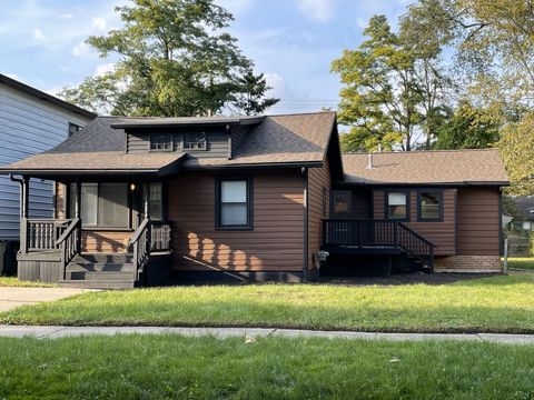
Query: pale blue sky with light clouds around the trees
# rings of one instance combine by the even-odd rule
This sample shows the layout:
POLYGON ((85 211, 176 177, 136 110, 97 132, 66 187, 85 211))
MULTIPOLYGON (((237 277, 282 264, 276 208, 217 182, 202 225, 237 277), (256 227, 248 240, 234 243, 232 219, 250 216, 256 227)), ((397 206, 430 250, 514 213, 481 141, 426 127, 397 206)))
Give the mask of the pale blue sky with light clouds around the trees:
MULTIPOLYGON (((375 13, 396 21, 411 0, 218 0, 235 16, 230 32, 265 72, 280 103, 270 113, 335 108, 343 49, 356 48, 375 13)), ((127 0, 0 0, 0 73, 56 93, 105 73, 112 60, 85 43, 120 26, 127 0)))

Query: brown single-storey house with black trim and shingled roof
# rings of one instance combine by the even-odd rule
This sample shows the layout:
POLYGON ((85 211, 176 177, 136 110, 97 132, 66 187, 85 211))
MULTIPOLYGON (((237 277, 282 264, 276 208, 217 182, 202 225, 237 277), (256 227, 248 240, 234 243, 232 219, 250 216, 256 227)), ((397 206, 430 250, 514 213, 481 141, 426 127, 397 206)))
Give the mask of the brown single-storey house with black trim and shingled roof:
POLYGON ((99 117, 0 173, 22 177, 21 279, 299 281, 320 250, 501 268, 496 151, 342 156, 334 112, 99 117), (56 219, 28 217, 30 178, 57 182, 56 219))

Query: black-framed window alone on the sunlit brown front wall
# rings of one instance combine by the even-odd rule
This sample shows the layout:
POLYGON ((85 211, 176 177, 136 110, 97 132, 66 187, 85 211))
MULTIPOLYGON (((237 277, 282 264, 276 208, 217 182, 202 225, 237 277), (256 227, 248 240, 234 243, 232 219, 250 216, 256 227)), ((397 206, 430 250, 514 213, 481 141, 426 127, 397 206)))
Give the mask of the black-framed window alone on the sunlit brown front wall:
POLYGON ((251 229, 251 181, 220 179, 217 183, 218 228, 251 229))

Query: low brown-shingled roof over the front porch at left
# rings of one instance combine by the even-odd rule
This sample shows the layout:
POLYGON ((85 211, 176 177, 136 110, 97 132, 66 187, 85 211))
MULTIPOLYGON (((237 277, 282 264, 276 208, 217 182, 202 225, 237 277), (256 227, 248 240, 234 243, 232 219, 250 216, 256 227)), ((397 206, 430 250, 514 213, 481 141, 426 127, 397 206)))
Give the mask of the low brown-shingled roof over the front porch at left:
POLYGON ((40 153, 0 168, 0 173, 29 176, 156 174, 176 173, 185 153, 126 154, 122 151, 40 153))

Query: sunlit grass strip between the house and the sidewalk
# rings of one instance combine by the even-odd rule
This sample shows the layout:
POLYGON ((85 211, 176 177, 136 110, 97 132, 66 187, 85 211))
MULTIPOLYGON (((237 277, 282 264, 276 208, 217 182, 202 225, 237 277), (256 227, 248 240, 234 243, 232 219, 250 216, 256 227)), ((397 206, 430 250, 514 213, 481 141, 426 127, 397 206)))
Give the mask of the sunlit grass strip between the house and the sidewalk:
POLYGON ((247 284, 90 292, 20 307, 0 323, 534 332, 534 274, 451 284, 247 284))

